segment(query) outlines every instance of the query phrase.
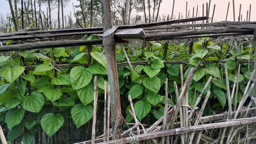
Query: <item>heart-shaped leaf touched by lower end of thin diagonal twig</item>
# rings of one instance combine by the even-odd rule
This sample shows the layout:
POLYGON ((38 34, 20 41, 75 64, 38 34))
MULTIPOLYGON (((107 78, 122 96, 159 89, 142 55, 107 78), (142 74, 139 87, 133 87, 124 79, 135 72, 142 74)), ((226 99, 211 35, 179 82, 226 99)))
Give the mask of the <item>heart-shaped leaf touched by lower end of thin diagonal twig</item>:
POLYGON ((147 88, 147 89, 149 89, 149 90, 151 90, 151 91, 153 91, 153 92, 155 92, 155 93, 157 93, 158 91, 159 91, 159 89, 160 89, 160 87, 161 87, 161 82, 160 82, 160 79, 158 78, 158 77, 153 77, 153 78, 145 78, 144 80, 143 80, 143 85, 147 88), (145 80, 146 79, 146 80, 145 80), (153 86, 152 86, 152 85, 153 86))

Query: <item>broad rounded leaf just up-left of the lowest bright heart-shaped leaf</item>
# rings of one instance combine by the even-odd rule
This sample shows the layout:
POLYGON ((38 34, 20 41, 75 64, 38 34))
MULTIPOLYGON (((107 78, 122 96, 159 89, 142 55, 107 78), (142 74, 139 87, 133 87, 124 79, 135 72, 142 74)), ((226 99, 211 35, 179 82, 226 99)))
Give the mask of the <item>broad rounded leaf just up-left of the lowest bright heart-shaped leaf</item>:
POLYGON ((30 112, 39 112, 44 105, 44 96, 38 92, 32 92, 29 96, 25 96, 21 106, 30 112))

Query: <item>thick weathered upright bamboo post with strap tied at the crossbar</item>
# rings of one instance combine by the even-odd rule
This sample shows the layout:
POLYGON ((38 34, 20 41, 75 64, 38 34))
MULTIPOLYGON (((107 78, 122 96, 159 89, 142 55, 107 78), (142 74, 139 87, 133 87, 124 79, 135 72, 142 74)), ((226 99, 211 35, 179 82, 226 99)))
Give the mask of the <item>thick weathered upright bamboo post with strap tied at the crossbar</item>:
MULTIPOLYGON (((101 0, 102 19, 103 19, 103 31, 113 27, 112 15, 110 8, 110 0, 101 0)), ((102 45, 105 49, 107 59, 107 71, 108 71, 108 82, 110 87, 110 106, 111 106, 111 127, 114 128, 115 120, 118 113, 121 111, 120 96, 119 96, 119 85, 118 85, 118 74, 116 65, 116 51, 115 51, 115 39, 114 33, 103 38, 102 45)), ((122 121, 119 121, 117 128, 122 131, 122 121)), ((118 131, 116 131, 118 132, 118 131)))

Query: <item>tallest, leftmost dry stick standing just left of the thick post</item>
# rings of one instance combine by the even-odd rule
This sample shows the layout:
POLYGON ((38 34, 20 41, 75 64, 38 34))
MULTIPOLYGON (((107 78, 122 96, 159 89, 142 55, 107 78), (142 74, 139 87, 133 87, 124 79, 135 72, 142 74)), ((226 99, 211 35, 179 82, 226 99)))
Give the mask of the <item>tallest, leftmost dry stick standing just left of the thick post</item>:
POLYGON ((95 124, 96 124, 96 113, 97 113, 97 76, 94 77, 94 101, 93 101, 93 117, 92 117, 92 144, 95 143, 95 124))

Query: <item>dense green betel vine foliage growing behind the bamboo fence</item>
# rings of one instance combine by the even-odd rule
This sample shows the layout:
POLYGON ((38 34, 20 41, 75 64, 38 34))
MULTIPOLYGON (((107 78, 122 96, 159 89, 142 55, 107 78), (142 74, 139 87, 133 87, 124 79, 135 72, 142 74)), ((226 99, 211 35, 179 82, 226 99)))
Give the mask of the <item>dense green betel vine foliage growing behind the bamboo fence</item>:
MULTIPOLYGON (((97 39, 89 36, 87 39, 97 39)), ((165 61, 183 61, 183 76, 186 79, 191 67, 205 59, 195 73, 189 86, 189 105, 193 107, 206 81, 213 77, 207 90, 212 91, 204 115, 226 109, 226 82, 224 64, 227 64, 230 85, 237 74, 238 63, 242 64, 239 79, 238 101, 253 71, 248 60, 254 59, 254 48, 247 39, 234 39, 228 42, 213 43, 210 38, 200 38, 189 50, 189 42, 150 41, 148 48, 133 45, 131 51, 126 46, 131 62, 147 60, 147 65, 119 66, 119 88, 122 114, 127 122, 133 120, 128 109, 128 94, 134 101, 138 119, 150 125, 152 120, 163 115, 165 79, 169 79, 169 104, 175 102, 174 81, 180 90, 180 64, 167 64, 165 61), (189 52, 190 51, 190 52, 189 52), (191 53, 191 54, 189 54, 191 53), (211 62, 221 60, 219 64, 211 62), (188 62, 187 62, 188 61, 188 62), (195 92, 196 89, 196 92, 195 92), (150 120, 148 119, 150 117, 150 120)), ((0 57, 0 122, 8 127, 8 141, 20 134, 24 144, 29 144, 42 128, 47 135, 53 136, 68 118, 72 118, 76 127, 86 124, 93 115, 93 77, 97 76, 98 93, 104 93, 104 81, 107 81, 106 57, 100 57, 103 47, 53 48, 11 52, 10 56, 0 57), (91 56, 89 62, 88 57, 91 56), (80 63, 89 66, 75 66, 59 69, 54 66, 62 63, 80 63), (25 66, 36 66, 34 70, 25 70, 25 66), (5 124, 4 124, 5 125, 5 124)), ((125 55, 117 45, 117 62, 125 62, 125 55)), ((107 83, 108 84, 108 83, 107 83)), ((206 91, 207 92, 207 91, 206 91)), ((206 94, 205 92, 205 94, 206 94)), ((203 95, 204 97, 205 95, 203 95)), ((102 101, 98 101, 102 103, 102 101)), ((233 101, 234 104, 234 101, 233 101)), ((199 104, 200 106, 200 104, 199 104)), ((100 109, 100 108, 99 108, 100 109)), ((103 112, 99 112, 103 113, 103 112)), ((64 125, 63 125, 64 124, 64 125)))

